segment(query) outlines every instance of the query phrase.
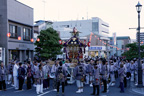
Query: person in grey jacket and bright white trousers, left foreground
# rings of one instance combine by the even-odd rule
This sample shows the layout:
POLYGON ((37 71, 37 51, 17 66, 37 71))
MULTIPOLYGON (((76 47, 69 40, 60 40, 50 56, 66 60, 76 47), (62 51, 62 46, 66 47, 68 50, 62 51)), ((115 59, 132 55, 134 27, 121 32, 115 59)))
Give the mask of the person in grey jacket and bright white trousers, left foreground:
POLYGON ((36 71, 36 77, 37 77, 36 93, 40 94, 43 93, 43 77, 44 77, 41 64, 39 65, 39 70, 36 71))

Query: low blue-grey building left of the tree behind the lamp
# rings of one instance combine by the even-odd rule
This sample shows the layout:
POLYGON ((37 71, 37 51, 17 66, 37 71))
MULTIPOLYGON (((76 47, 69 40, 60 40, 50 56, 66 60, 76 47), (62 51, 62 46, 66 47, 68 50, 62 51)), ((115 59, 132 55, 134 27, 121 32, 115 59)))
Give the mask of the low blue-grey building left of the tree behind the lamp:
POLYGON ((110 38, 110 56, 121 56, 121 54, 127 51, 126 45, 131 43, 129 36, 116 37, 116 45, 114 45, 113 37, 110 38), (117 48, 116 48, 117 47, 117 48))

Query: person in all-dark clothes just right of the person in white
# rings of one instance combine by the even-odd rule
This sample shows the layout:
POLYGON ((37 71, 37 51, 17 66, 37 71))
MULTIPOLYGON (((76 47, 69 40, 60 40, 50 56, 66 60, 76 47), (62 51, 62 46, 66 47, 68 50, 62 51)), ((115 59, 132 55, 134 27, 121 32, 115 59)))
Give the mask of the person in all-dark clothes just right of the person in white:
POLYGON ((19 79, 19 89, 18 90, 23 90, 23 84, 24 84, 24 79, 25 79, 25 69, 22 67, 22 63, 19 63, 19 68, 18 68, 18 79, 19 79))

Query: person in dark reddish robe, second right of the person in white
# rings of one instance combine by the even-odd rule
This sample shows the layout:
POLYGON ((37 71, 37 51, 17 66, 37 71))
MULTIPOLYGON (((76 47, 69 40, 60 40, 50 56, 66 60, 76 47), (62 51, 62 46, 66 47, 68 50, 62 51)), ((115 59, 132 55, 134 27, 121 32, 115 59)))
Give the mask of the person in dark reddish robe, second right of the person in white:
POLYGON ((32 80, 32 69, 30 61, 27 62, 27 90, 31 89, 31 80, 32 80))

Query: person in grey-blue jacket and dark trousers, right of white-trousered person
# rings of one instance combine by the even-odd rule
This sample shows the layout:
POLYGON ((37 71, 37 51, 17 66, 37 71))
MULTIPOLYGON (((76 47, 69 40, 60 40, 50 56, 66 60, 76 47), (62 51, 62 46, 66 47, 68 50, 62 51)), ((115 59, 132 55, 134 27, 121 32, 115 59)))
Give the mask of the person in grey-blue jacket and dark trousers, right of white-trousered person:
POLYGON ((50 66, 49 66, 49 61, 46 63, 44 62, 43 66, 43 72, 44 72, 44 80, 43 80, 43 88, 44 90, 49 89, 49 82, 50 82, 50 66))

